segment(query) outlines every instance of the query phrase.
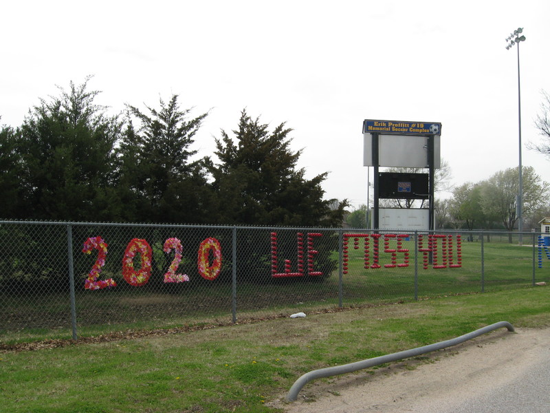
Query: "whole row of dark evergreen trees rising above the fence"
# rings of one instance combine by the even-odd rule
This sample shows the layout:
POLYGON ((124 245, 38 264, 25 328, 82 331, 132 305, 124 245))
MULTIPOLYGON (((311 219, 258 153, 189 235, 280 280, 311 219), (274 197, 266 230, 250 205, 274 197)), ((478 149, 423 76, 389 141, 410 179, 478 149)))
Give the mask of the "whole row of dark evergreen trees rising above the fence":
POLYGON ((199 157, 208 112, 192 115, 174 94, 109 116, 89 80, 0 127, 0 218, 340 226, 347 201, 325 200, 327 173, 305 177, 285 123, 270 130, 243 109, 214 156, 199 157))

